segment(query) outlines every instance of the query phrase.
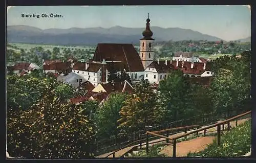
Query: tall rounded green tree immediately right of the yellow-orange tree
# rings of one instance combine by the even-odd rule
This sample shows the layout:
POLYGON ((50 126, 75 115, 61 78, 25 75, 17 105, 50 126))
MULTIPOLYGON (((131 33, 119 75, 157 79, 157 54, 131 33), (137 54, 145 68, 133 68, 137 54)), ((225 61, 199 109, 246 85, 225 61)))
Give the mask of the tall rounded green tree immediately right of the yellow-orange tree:
POLYGON ((189 85, 180 70, 175 70, 161 80, 158 86, 157 115, 159 123, 166 123, 185 118, 185 108, 188 103, 189 85))

